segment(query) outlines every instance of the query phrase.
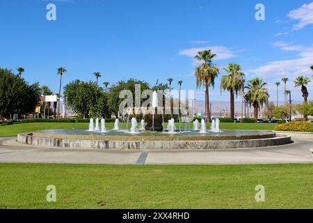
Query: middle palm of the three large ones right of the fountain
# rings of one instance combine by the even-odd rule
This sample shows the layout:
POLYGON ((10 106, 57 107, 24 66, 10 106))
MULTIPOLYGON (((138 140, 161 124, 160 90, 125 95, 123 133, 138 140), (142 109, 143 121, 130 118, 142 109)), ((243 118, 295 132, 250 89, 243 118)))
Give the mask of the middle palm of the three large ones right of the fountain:
POLYGON ((242 79, 245 76, 241 72, 241 66, 236 63, 228 64, 227 68, 224 68, 228 75, 224 75, 220 79, 220 91, 230 91, 230 117, 232 122, 234 122, 234 94, 236 96, 242 89, 242 79))

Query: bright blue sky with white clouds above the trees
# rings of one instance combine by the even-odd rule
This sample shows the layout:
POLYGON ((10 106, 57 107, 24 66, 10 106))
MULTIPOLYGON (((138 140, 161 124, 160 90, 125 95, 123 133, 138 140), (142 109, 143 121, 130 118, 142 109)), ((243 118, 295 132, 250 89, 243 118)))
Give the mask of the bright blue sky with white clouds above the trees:
MULTIPOLYGON (((282 77, 312 76, 312 1, 0 0, 0 26, 0 67, 22 66, 27 81, 53 91, 61 66, 64 84, 94 79, 98 71, 101 82, 133 77, 154 84, 172 77, 195 89, 193 56, 208 48, 218 66, 239 63, 247 79, 264 78, 270 100, 282 77), (56 4, 56 21, 46 19, 48 3, 56 4), (255 20, 257 3, 265 6, 265 21, 255 20)), ((287 88, 302 100, 294 84, 287 88)), ((312 83, 308 89, 312 100, 312 83)), ((202 89, 196 97, 202 99, 202 89)), ((218 78, 211 100, 228 98, 220 95, 218 78)))

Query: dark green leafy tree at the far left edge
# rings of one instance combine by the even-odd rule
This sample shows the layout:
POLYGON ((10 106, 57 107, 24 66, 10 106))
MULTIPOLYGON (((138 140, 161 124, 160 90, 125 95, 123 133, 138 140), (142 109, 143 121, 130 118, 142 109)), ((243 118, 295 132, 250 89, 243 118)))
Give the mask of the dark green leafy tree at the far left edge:
POLYGON ((40 96, 39 84, 29 84, 11 70, 0 69, 0 115, 12 119, 13 114, 34 112, 40 96))

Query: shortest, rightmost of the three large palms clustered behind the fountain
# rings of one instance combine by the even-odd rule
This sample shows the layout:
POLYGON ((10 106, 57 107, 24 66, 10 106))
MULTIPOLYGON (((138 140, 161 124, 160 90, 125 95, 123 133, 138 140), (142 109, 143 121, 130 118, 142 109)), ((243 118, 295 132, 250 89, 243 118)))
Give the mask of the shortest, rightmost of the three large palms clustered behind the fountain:
POLYGON ((257 121, 259 108, 268 102, 268 90, 263 79, 255 78, 248 82, 248 92, 246 93, 246 100, 253 106, 253 115, 257 121))

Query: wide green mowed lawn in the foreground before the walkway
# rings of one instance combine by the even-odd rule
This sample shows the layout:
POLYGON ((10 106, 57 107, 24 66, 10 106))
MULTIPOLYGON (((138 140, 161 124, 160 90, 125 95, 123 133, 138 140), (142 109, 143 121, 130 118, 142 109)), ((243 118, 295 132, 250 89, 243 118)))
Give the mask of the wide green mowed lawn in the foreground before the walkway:
POLYGON ((0 164, 0 208, 313 208, 312 173, 313 164, 0 164))

